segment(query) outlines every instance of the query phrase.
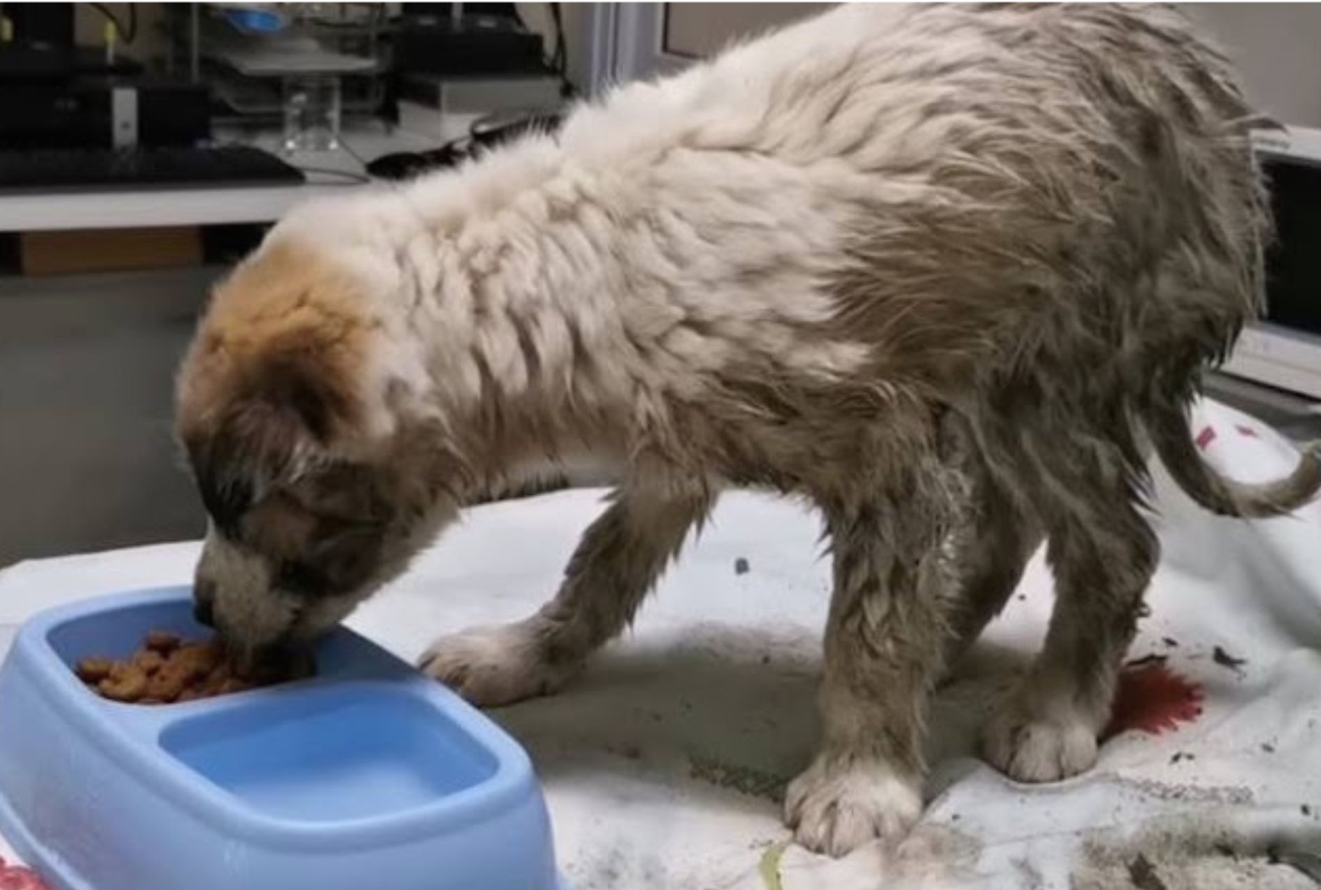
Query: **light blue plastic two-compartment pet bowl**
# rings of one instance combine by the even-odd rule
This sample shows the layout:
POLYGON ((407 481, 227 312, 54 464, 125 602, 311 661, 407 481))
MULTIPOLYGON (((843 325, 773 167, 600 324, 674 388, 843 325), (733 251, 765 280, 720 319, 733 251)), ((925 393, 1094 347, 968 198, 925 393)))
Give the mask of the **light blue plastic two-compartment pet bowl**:
POLYGON ((546 803, 491 721, 339 629, 317 676, 176 705, 71 666, 148 630, 209 635, 190 592, 29 621, 0 669, 0 833, 59 890, 555 890, 546 803))

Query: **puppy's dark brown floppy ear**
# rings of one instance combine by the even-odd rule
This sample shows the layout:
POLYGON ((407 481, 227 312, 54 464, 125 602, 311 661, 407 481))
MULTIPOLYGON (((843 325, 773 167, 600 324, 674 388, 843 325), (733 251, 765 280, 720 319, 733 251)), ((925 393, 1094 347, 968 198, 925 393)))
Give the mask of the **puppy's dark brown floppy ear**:
POLYGON ((325 460, 357 420, 349 378, 318 339, 289 331, 227 362, 215 401, 181 429, 202 502, 222 528, 271 486, 325 460))

